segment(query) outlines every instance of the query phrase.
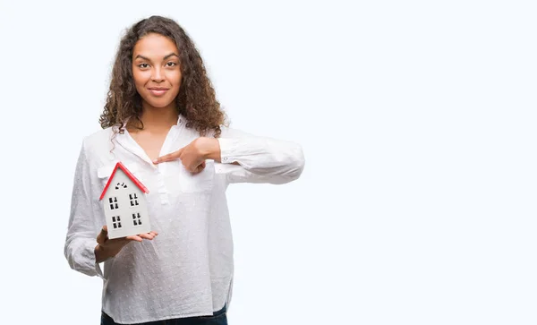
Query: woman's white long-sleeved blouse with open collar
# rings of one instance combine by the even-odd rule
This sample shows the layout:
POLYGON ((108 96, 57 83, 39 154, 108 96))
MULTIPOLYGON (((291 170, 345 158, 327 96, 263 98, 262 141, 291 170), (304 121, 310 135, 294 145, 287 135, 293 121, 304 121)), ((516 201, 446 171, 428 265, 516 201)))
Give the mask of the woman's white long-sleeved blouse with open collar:
MULTIPOLYGON (((200 137, 179 115, 159 156, 200 137)), ((72 269, 103 278, 102 310, 117 323, 212 315, 231 303, 233 239, 226 202, 232 183, 285 184, 303 172, 302 147, 292 141, 221 127, 221 161, 192 175, 179 160, 153 165, 125 131, 93 133, 82 142, 72 189, 64 254, 72 269), (132 242, 104 262, 94 249, 106 225, 100 193, 122 161, 148 189, 153 240, 132 242), (232 162, 240 165, 232 165, 232 162)), ((211 136, 210 134, 208 136, 211 136)))

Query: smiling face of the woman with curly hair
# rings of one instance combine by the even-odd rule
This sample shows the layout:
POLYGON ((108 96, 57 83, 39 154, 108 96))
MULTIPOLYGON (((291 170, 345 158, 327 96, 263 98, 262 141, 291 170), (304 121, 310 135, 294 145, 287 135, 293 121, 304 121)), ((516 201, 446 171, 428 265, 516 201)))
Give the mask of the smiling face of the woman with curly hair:
POLYGON ((181 87, 175 42, 155 33, 140 38, 132 51, 132 76, 144 107, 175 107, 181 87))

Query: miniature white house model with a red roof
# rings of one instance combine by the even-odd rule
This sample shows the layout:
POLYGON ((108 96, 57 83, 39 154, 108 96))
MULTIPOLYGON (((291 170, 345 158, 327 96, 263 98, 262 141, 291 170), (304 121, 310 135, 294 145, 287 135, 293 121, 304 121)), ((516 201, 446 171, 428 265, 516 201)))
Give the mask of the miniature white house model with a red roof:
POLYGON ((108 238, 149 233, 148 189, 121 162, 115 164, 99 201, 107 218, 108 238))

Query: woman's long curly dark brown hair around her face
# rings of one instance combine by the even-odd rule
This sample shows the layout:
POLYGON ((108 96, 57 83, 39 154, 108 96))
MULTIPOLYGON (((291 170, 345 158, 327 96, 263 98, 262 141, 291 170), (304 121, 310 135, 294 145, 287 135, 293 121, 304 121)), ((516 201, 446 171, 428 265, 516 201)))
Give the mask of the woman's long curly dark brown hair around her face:
POLYGON ((217 101, 200 52, 177 22, 156 15, 133 24, 119 43, 107 103, 99 118, 101 127, 118 125, 119 132, 123 132, 125 119, 131 121, 134 118, 143 128, 141 96, 132 77, 132 50, 136 42, 149 33, 170 38, 179 49, 182 81, 175 102, 178 113, 187 120, 186 127, 194 128, 201 136, 213 131, 214 137, 219 137, 220 125, 226 122, 226 113, 217 101))

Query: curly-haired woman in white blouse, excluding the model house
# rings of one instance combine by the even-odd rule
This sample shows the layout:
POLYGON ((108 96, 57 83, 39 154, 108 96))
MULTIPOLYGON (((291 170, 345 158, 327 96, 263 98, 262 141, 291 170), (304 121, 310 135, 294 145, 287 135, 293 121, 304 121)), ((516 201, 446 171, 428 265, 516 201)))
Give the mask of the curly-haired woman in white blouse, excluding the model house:
POLYGON ((192 40, 159 16, 122 38, 100 124, 82 142, 64 253, 103 278, 101 323, 226 324, 226 187, 297 179, 301 146, 229 128, 192 40), (149 189, 152 231, 109 239, 98 198, 118 161, 149 189))

